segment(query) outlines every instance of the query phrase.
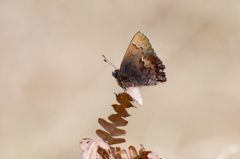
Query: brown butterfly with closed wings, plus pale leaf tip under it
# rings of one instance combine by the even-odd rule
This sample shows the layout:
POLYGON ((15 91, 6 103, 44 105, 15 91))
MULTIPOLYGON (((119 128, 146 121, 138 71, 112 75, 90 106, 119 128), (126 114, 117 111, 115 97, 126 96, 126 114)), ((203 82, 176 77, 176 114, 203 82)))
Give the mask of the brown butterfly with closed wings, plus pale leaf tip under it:
MULTIPOLYGON (((109 62, 105 56, 104 58, 104 61, 109 62)), ((133 36, 120 69, 116 69, 112 75, 118 85, 142 105, 138 87, 166 82, 164 69, 165 65, 158 58, 148 38, 139 31, 133 36)))

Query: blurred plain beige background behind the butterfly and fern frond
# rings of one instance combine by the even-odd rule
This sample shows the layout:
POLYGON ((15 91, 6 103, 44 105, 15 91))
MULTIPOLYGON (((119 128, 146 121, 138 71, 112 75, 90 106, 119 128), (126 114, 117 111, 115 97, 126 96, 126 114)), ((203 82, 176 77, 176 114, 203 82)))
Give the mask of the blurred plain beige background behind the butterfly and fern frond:
POLYGON ((0 158, 81 158, 122 89, 119 67, 142 31, 168 81, 141 88, 127 142, 165 159, 240 152, 240 1, 1 0, 0 158))

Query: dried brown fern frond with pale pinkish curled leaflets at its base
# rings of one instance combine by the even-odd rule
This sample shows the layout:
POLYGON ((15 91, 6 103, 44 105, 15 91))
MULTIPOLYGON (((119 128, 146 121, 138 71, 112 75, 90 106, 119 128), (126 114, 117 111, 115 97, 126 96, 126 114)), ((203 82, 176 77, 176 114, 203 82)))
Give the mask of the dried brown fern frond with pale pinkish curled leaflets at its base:
POLYGON ((141 145, 139 152, 134 146, 129 146, 128 151, 120 147, 112 147, 113 144, 125 142, 124 138, 115 138, 116 136, 126 135, 126 131, 119 127, 126 126, 128 121, 125 119, 130 114, 127 108, 134 107, 131 103, 132 97, 127 93, 116 94, 116 99, 119 104, 113 104, 112 107, 115 114, 108 117, 108 120, 99 118, 98 123, 104 130, 98 129, 97 135, 99 139, 84 139, 80 143, 80 148, 83 150, 83 159, 160 159, 158 155, 152 151, 146 151, 141 145))

